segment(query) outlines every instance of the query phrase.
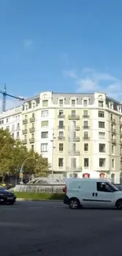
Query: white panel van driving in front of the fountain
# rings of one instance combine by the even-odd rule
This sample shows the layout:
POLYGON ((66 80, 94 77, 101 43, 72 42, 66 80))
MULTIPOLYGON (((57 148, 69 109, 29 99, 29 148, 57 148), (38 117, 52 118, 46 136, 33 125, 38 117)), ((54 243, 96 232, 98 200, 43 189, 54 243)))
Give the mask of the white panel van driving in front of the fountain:
POLYGON ((67 179, 64 203, 71 209, 83 206, 116 207, 122 210, 122 191, 109 180, 67 179))

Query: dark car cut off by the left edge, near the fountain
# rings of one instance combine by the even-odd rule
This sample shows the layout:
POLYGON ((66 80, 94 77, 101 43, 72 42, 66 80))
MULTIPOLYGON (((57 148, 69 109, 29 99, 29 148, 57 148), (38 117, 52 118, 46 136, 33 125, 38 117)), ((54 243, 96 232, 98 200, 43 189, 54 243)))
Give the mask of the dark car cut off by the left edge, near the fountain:
POLYGON ((8 203, 13 205, 16 202, 17 196, 13 192, 7 191, 6 188, 0 187, 0 203, 8 203))

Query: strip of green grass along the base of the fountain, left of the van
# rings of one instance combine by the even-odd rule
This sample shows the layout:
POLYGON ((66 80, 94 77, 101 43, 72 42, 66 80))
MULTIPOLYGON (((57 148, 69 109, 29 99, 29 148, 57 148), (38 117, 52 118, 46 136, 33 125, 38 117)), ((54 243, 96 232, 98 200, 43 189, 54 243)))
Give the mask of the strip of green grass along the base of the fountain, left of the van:
POLYGON ((54 193, 31 193, 31 192, 15 192, 17 198, 33 199, 33 200, 63 200, 64 194, 54 193))

